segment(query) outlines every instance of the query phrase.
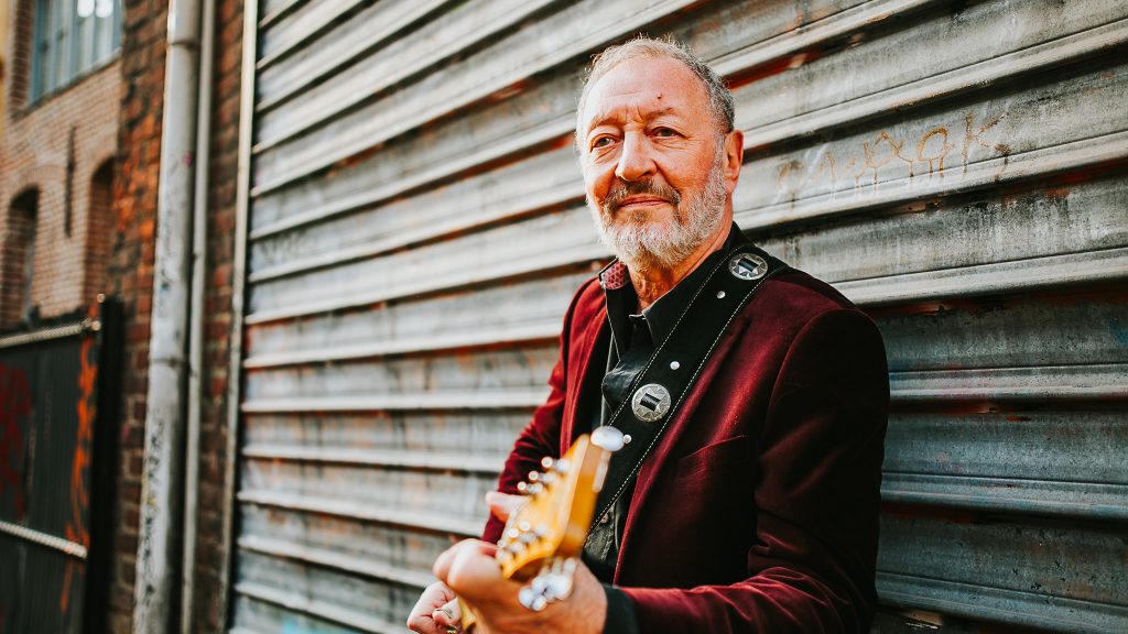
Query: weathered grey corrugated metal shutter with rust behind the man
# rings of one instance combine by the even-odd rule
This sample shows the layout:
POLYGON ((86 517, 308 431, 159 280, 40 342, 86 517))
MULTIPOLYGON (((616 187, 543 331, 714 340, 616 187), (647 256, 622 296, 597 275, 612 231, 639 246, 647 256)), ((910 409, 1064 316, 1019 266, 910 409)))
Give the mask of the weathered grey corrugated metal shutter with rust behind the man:
POLYGON ((741 227, 885 335, 883 602, 1128 629, 1128 5, 259 15, 237 631, 403 631, 477 532, 606 257, 570 147, 582 68, 638 30, 730 78, 741 227))

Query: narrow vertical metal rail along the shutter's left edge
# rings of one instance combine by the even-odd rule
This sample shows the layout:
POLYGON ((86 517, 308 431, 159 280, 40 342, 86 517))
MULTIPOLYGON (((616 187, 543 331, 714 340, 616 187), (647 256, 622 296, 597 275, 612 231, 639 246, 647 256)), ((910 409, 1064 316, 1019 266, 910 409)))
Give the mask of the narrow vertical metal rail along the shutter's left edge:
POLYGON ((250 148, 254 140, 255 62, 258 59, 258 0, 243 3, 243 77, 239 82, 239 166, 236 180, 235 254, 231 257, 231 343, 227 375, 227 450, 223 473, 223 562, 219 614, 231 622, 231 572, 235 565, 235 488, 238 483, 239 405, 243 399, 243 311, 246 284, 247 227, 250 213, 250 148))

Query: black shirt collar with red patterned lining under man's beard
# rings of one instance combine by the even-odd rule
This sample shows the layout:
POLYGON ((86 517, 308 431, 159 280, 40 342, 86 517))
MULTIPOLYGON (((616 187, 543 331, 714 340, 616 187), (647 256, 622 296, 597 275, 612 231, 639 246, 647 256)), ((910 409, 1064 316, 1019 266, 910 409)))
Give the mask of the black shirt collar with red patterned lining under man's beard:
POLYGON ((650 328, 651 341, 659 345, 670 335, 678 317, 685 311, 694 292, 705 283, 710 271, 716 265, 717 259, 735 248, 737 245, 747 243, 748 238, 740 232, 740 228, 733 222, 729 229, 729 237, 724 245, 708 255, 696 268, 685 276, 676 287, 666 292, 662 297, 642 311, 642 317, 636 315, 638 310, 638 294, 631 283, 631 275, 627 267, 620 261, 615 259, 599 272, 599 285, 603 289, 603 298, 607 306, 607 318, 611 325, 611 336, 615 340, 616 349, 622 353, 631 342, 631 322, 642 322, 650 328), (632 319, 634 317, 634 319, 632 319))

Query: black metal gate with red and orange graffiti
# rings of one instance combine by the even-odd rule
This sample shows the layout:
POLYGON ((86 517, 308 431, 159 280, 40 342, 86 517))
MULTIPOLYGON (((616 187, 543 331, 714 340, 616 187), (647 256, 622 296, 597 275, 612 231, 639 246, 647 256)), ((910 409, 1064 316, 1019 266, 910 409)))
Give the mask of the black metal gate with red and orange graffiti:
POLYGON ((0 634, 105 628, 118 312, 0 336, 0 634))

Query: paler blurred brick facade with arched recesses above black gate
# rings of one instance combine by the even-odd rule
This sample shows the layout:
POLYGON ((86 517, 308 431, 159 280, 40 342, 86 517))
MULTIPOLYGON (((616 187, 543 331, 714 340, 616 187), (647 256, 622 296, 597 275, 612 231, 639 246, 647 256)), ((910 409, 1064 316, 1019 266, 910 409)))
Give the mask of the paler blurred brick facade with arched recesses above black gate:
MULTIPOLYGON (((90 221, 90 183, 95 173, 112 161, 117 147, 116 105, 122 86, 118 62, 113 61, 29 105, 32 6, 23 0, 8 7, 11 32, 6 38, 6 58, 12 63, 5 77, 5 133, 0 140, 0 244, 8 245, 12 229, 20 230, 10 222, 12 202, 37 191, 30 303, 42 316, 51 317, 88 306, 100 292, 100 284, 86 284, 87 246, 91 230, 100 231, 99 240, 112 237, 105 223, 90 221)), ((6 259, 15 255, 15 250, 5 249, 6 259)), ((8 262, 2 266, 5 271, 19 268, 8 262)), ((21 283, 21 276, 0 276, 0 328, 19 320, 20 311, 12 305, 19 303, 23 293, 12 292, 11 287, 21 283)))

